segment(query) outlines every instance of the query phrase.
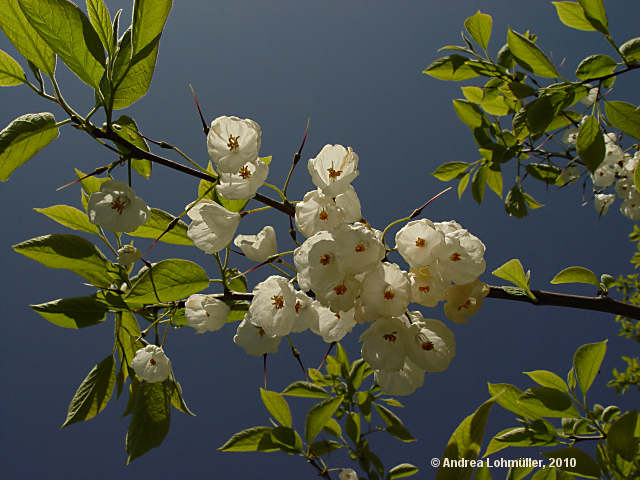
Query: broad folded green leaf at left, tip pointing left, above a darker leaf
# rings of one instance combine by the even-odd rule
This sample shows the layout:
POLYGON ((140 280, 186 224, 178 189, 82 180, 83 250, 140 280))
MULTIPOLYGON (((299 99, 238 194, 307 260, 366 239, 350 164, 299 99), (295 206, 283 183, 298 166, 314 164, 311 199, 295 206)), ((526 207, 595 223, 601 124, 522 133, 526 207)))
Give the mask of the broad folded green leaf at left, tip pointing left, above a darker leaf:
POLYGON ((76 235, 44 235, 14 245, 13 249, 45 267, 71 270, 96 286, 108 287, 113 281, 109 274, 112 267, 102 252, 76 235))

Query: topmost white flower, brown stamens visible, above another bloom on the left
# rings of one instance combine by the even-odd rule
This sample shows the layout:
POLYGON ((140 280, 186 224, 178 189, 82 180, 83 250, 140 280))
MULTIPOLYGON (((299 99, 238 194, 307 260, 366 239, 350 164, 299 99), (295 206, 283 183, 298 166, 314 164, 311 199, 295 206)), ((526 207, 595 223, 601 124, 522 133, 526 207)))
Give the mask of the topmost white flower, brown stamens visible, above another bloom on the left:
POLYGON ((246 163, 256 163, 261 137, 253 120, 218 117, 207 134, 207 151, 219 172, 236 173, 246 163))

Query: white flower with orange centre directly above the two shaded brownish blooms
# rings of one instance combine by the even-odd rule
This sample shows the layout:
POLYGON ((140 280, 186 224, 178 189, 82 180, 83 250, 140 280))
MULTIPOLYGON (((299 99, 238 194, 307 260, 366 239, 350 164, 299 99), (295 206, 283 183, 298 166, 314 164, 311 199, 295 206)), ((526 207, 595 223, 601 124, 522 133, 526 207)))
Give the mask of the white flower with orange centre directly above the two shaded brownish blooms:
POLYGON ((407 272, 395 263, 381 262, 367 272, 362 280, 360 299, 379 315, 402 315, 411 298, 411 283, 407 272))

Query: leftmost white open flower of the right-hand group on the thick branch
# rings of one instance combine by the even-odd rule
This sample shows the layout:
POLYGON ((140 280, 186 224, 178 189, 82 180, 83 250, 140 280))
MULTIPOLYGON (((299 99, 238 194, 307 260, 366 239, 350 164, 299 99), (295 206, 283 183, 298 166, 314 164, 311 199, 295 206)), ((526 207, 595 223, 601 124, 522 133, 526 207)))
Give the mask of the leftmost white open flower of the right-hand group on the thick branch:
POLYGON ((444 242, 444 233, 431 220, 422 218, 407 223, 396 234, 396 248, 411 268, 435 263, 434 249, 444 242))

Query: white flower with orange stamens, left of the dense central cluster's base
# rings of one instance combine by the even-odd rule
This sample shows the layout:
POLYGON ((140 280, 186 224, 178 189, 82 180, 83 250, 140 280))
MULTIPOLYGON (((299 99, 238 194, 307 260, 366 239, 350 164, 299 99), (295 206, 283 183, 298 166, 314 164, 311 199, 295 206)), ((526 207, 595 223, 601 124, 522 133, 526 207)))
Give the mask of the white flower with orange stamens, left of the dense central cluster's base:
POLYGON ((296 321, 296 293, 284 277, 272 275, 253 290, 251 322, 268 336, 288 335, 296 321))

